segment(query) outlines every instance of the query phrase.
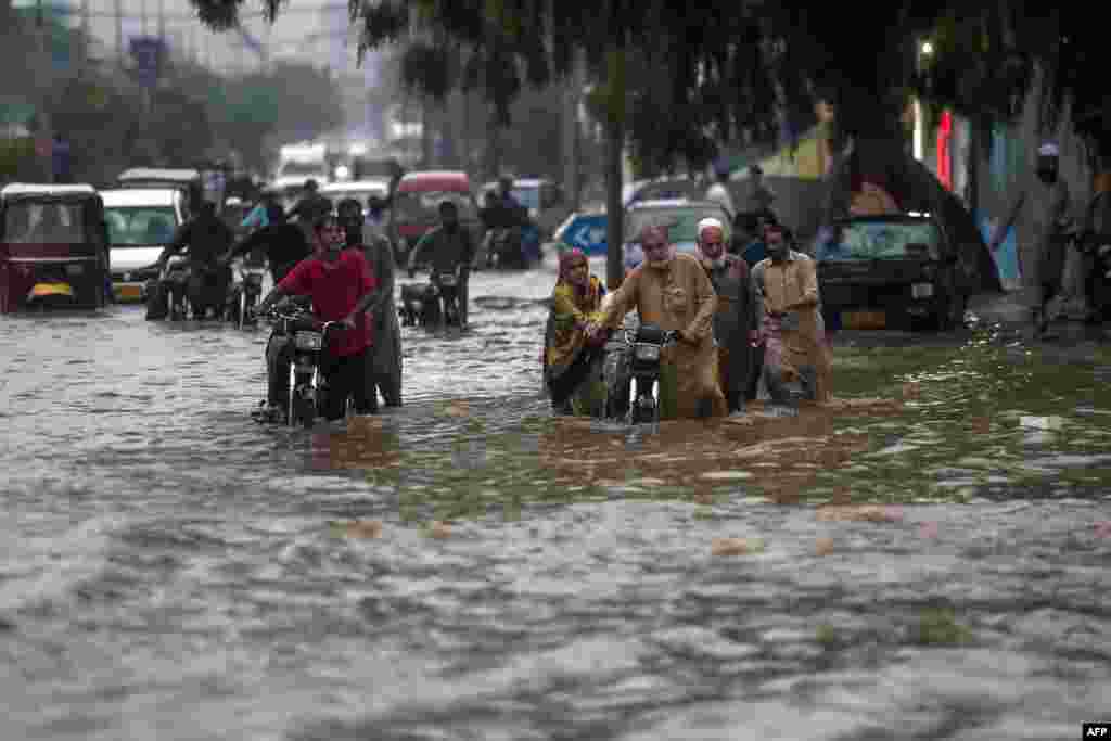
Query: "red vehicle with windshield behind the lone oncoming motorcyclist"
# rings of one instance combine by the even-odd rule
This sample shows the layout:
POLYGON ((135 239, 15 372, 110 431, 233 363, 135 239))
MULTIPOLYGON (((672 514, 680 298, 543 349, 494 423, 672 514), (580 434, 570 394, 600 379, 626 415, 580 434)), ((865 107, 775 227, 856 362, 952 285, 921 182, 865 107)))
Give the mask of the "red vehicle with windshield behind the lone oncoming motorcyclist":
POLYGON ((466 172, 409 172, 398 182, 393 208, 387 219, 387 233, 397 251, 399 266, 408 263, 409 252, 420 238, 440 223, 439 208, 443 201, 451 201, 459 208, 459 222, 470 230, 476 249, 482 243, 479 206, 466 172))

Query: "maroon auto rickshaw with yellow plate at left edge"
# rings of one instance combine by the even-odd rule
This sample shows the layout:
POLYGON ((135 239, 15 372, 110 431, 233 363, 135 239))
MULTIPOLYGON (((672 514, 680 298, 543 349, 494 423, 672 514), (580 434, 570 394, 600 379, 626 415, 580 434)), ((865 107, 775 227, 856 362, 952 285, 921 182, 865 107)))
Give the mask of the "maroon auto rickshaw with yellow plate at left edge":
POLYGON ((91 186, 0 190, 0 313, 102 308, 109 259, 104 204, 91 186))

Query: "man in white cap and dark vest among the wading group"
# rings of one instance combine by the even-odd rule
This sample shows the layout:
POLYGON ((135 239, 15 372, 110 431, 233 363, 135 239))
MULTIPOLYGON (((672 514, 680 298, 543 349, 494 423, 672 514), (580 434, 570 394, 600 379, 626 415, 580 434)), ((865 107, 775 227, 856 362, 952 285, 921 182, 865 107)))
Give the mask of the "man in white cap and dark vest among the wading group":
POLYGON ((757 341, 755 303, 748 263, 725 252, 725 228, 718 219, 698 223, 698 258, 718 294, 713 336, 718 342, 718 382, 730 413, 744 411, 757 341))

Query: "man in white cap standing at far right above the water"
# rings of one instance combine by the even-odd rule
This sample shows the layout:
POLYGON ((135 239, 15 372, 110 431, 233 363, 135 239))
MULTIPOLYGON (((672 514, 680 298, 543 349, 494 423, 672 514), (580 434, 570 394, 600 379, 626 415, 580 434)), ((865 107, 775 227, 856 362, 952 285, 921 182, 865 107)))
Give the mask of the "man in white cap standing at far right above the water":
POLYGON ((1038 149, 1035 177, 1031 178, 991 244, 993 250, 998 249, 1011 224, 1017 224, 1019 270, 1039 334, 1044 334, 1049 328, 1047 308, 1061 287, 1065 254, 1061 236, 1070 218, 1071 199, 1069 187, 1059 177, 1059 157, 1060 150, 1052 141, 1043 142, 1038 149))

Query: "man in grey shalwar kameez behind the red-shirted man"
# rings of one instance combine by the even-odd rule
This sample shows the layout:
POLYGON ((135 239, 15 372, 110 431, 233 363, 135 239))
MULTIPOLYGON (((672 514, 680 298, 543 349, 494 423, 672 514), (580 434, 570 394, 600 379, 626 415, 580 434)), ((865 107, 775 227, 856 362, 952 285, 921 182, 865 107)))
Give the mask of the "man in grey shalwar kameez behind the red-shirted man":
POLYGON ((374 347, 370 352, 367 371, 374 388, 382 394, 387 407, 401 405, 401 327, 398 309, 393 301, 397 267, 393 249, 389 240, 380 234, 371 234, 363 242, 362 208, 359 202, 348 199, 339 206, 340 223, 347 231, 348 248, 361 249, 378 281, 379 298, 374 302, 374 347))

